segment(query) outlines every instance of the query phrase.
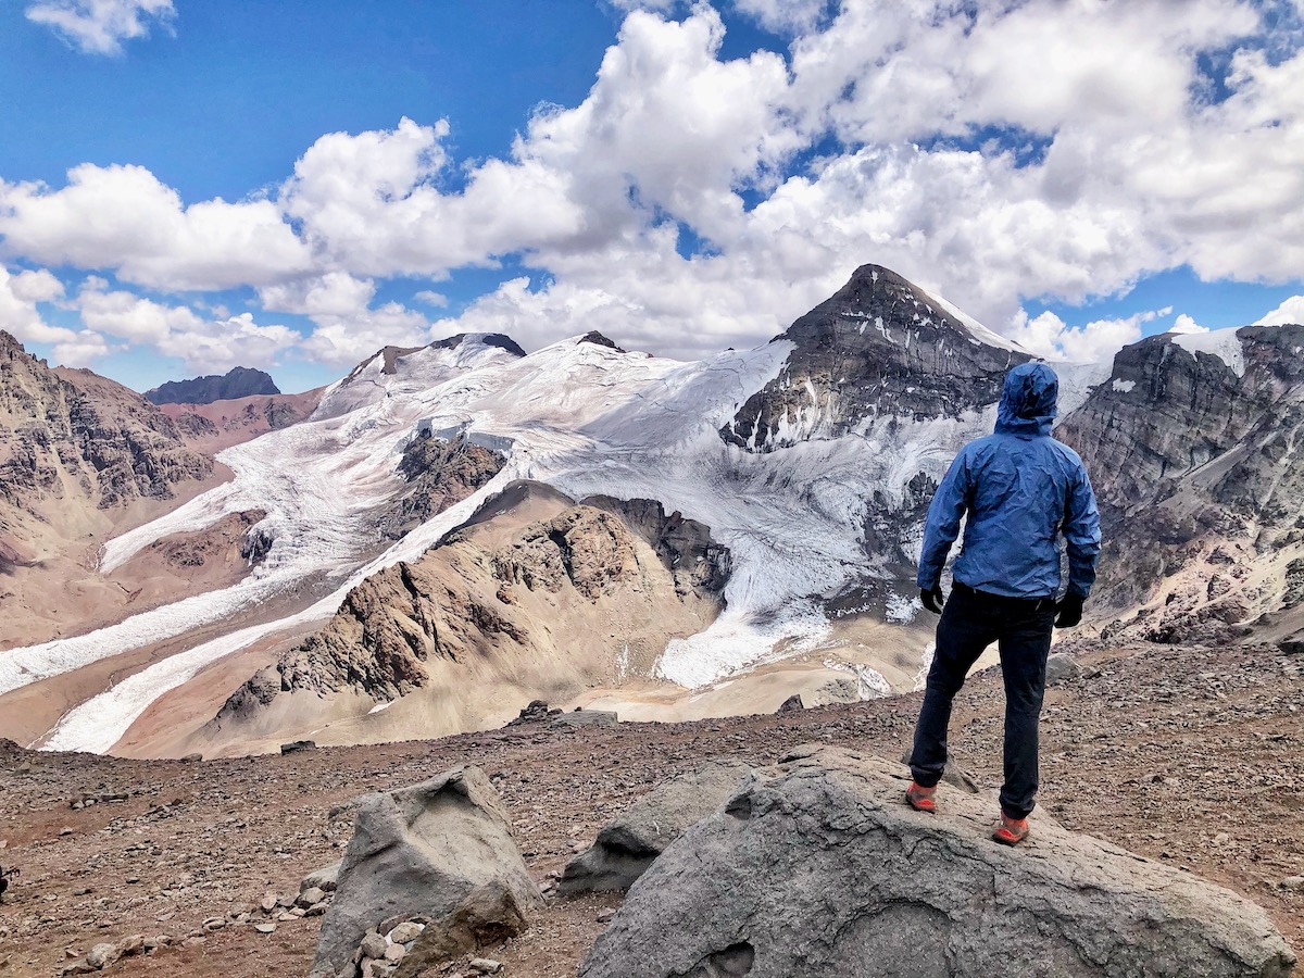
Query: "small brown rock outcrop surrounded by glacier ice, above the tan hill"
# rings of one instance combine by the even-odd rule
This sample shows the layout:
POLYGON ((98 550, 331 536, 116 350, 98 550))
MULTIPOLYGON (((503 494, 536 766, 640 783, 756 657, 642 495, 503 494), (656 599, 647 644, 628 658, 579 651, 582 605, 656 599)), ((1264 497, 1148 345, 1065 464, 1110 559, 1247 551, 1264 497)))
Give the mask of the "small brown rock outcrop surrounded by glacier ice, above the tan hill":
POLYGON ((454 503, 482 489, 502 471, 506 456, 466 439, 417 436, 403 450, 399 472, 411 486, 396 511, 381 520, 382 532, 398 539, 454 503))

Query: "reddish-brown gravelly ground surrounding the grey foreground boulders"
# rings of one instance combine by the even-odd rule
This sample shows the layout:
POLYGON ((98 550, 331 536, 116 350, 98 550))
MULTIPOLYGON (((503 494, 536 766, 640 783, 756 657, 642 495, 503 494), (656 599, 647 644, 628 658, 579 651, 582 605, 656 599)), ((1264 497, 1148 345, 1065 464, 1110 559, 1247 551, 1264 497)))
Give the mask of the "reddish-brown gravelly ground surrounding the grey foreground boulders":
MULTIPOLYGON (((1275 645, 1134 645, 1080 661, 1085 674, 1047 696, 1043 814, 1248 897, 1304 949, 1304 659, 1275 645)), ((190 764, 5 745, 0 865, 21 875, 0 905, 0 974, 83 966, 96 945, 125 953, 87 964, 123 975, 306 974, 325 908, 295 908, 300 880, 340 858, 352 825, 331 810, 359 794, 481 767, 550 892, 608 819, 666 776, 708 759, 773 764, 811 742, 896 758, 917 708, 905 696, 677 725, 544 720, 190 764)), ((999 780, 1000 709, 991 674, 957 702, 952 746, 983 785, 999 780)), ((502 974, 574 975, 619 900, 550 897, 493 953, 502 974)))

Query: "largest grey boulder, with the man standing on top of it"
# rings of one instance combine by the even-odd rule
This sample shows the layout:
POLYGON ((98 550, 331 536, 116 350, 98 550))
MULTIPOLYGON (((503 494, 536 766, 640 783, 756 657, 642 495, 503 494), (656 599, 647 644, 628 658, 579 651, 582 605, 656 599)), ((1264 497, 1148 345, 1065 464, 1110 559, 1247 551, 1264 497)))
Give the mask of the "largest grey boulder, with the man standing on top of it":
POLYGON ((634 884, 580 978, 1284 978, 1253 904, 1038 823, 1008 849, 988 801, 819 748, 758 772, 634 884))

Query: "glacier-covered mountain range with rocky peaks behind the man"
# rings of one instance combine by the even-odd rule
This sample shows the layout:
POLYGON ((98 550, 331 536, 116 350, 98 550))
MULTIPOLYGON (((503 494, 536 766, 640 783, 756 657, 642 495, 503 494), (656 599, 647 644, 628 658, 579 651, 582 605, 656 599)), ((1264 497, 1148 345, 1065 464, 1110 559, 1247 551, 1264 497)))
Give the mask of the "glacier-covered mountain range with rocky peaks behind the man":
MULTIPOLYGON (((1056 434, 1106 524, 1090 634, 1304 627, 1300 349, 1304 326, 1245 327, 1056 365, 1056 434)), ((536 696, 655 719, 910 689, 927 505, 1028 359, 867 265, 769 344, 699 363, 480 334, 378 351, 292 404, 183 412, 228 439, 232 477, 100 569, 211 549, 239 518, 245 576, 0 653, 0 735, 7 702, 78 668, 112 679, 35 739, 136 755, 493 726, 536 696)))

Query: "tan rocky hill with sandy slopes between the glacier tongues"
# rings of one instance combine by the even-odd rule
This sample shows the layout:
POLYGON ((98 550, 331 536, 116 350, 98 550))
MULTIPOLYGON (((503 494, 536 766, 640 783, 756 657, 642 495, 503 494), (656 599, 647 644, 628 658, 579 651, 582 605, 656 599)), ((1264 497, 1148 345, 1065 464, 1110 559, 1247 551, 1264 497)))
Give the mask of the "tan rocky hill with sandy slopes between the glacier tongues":
MULTIPOLYGON (((464 472, 462 464, 486 472, 473 459, 447 468, 464 472)), ((438 704, 441 724, 498 725, 516 695, 524 694, 518 703, 569 698, 648 674, 670 638, 700 631, 719 613, 728 550, 700 524, 635 502, 642 523, 631 528, 613 511, 615 501, 605 501, 608 509, 576 506, 548 490, 539 505, 554 515, 512 532, 499 523, 510 518, 505 509, 528 497, 520 485, 528 484, 488 502, 421 559, 355 587, 325 629, 227 700, 213 730, 273 724, 288 708, 282 696, 314 704, 356 696, 372 709, 419 691, 438 704)), ((615 721, 602 711, 548 719, 615 721)))

